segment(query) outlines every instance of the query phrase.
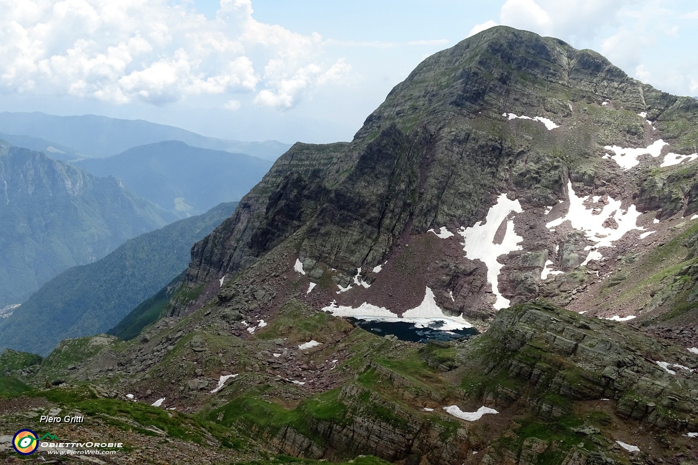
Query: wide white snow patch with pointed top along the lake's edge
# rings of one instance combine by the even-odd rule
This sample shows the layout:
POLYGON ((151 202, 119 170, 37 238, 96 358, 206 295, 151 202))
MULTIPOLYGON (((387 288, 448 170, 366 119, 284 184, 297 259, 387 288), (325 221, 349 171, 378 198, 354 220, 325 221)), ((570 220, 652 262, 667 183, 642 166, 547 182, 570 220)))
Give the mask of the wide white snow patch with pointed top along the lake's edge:
POLYGON ((402 318, 397 313, 389 311, 385 307, 378 307, 364 302, 359 307, 338 306, 333 300, 322 311, 330 311, 334 316, 350 316, 359 320, 378 320, 395 323, 403 321, 413 323, 416 327, 438 327, 439 330, 452 331, 473 327, 463 316, 445 316, 434 300, 434 293, 430 288, 424 292, 424 300, 414 309, 403 313, 402 318))

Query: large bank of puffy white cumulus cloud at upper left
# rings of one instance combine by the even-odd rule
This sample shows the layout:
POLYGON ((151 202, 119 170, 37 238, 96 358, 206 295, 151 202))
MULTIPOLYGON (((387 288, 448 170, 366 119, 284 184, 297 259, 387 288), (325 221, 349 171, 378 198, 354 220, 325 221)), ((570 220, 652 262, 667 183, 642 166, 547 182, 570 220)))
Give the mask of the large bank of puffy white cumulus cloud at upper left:
POLYGON ((262 105, 290 108, 350 71, 321 56, 318 34, 258 22, 251 0, 222 0, 213 19, 166 0, 0 3, 6 94, 155 105, 219 94, 233 108, 230 94, 256 93, 262 105))

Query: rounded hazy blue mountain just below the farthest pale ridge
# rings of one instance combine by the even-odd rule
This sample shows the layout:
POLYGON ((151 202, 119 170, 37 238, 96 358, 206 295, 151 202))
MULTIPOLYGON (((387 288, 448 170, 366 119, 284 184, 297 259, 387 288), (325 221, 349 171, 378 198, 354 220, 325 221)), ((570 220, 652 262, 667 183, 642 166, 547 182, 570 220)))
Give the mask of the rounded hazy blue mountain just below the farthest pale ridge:
POLYGON ((182 216, 241 199, 272 166, 254 156, 191 147, 177 140, 76 164, 96 176, 114 175, 129 191, 182 216))

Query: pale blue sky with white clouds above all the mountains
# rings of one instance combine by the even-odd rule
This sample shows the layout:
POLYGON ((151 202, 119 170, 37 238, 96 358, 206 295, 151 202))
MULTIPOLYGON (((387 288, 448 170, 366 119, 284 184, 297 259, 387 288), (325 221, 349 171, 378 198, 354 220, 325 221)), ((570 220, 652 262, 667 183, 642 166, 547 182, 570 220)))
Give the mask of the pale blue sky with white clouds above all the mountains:
POLYGON ((351 140, 420 61, 496 24, 698 96, 693 0, 0 0, 0 111, 351 140))

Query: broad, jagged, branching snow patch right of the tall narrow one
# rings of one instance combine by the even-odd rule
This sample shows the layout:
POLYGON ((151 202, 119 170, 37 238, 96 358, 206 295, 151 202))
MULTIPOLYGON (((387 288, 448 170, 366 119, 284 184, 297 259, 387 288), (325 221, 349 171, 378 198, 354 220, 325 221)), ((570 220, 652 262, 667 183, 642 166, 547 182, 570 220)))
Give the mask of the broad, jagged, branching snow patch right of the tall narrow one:
MULTIPOLYGON (((621 200, 614 200, 609 196, 608 203, 602 207, 601 212, 594 214, 593 208, 587 209, 584 206, 584 202, 589 196, 577 197, 572 188, 572 182, 569 180, 567 181, 567 193, 570 198, 570 208, 565 216, 545 225, 549 230, 560 226, 565 221, 570 221, 572 228, 584 231, 587 239, 596 242, 595 249, 613 246, 613 242, 621 239, 630 230, 645 230, 645 228, 637 226, 637 218, 640 216, 640 213, 634 205, 630 205, 627 211, 623 212, 621 200), (608 219, 614 219, 618 228, 606 228, 604 223, 608 219)), ((586 265, 589 260, 600 260, 601 258, 600 253, 591 251, 582 265, 586 265)))

